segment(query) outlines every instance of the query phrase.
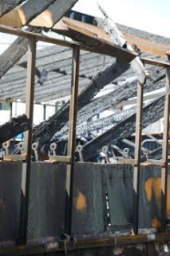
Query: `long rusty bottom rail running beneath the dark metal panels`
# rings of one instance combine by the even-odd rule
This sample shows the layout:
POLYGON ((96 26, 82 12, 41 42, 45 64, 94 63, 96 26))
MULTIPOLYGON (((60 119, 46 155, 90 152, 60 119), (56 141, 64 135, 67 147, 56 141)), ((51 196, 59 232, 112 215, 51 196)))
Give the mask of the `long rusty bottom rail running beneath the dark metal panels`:
POLYGON ((58 241, 47 244, 14 246, 10 248, 1 248, 0 256, 9 255, 30 255, 44 254, 48 252, 59 252, 64 250, 79 250, 95 247, 121 246, 143 242, 167 242, 170 240, 170 232, 159 234, 139 234, 131 236, 120 236, 114 238, 93 238, 75 241, 58 241))

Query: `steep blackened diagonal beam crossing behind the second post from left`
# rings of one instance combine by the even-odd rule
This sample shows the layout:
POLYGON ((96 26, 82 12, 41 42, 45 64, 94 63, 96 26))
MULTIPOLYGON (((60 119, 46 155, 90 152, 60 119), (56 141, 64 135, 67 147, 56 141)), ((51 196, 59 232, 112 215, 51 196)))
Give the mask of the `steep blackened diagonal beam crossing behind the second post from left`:
MULTIPOLYGON (((112 82, 115 78, 121 76, 129 68, 129 63, 122 62, 117 58, 105 67, 104 70, 99 71, 91 78, 89 86, 81 91, 78 97, 78 110, 88 104, 95 94, 104 86, 112 82)), ((60 130, 69 119, 69 102, 61 107, 56 114, 49 118, 48 122, 42 123, 38 126, 38 130, 34 131, 34 141, 38 141, 38 148, 48 142, 57 130, 60 130)))

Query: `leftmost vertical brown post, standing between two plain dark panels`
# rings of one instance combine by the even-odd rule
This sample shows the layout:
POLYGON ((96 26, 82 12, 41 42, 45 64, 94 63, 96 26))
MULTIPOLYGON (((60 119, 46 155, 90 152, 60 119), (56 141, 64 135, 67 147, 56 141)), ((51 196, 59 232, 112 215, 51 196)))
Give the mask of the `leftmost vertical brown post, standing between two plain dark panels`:
MULTIPOLYGON (((27 78, 26 78, 26 115, 33 123, 34 114, 34 81, 35 81, 35 61, 36 61, 36 37, 29 38, 28 60, 27 60, 27 78)), ((24 150, 26 152, 26 162, 22 163, 22 191, 18 244, 26 244, 29 193, 30 193, 30 162, 31 162, 31 144, 32 144, 32 126, 24 134, 24 150)))

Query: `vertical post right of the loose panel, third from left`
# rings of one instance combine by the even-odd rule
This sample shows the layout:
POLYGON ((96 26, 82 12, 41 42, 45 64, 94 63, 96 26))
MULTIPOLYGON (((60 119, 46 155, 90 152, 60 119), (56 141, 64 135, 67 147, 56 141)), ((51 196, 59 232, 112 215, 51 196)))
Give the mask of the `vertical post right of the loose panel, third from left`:
POLYGON ((133 193, 132 193, 132 230, 138 234, 139 220, 139 198, 140 198, 140 151, 141 151, 141 132, 142 132, 142 113, 143 113, 143 91, 144 86, 137 84, 136 102, 136 137, 135 137, 135 159, 133 172, 133 193))

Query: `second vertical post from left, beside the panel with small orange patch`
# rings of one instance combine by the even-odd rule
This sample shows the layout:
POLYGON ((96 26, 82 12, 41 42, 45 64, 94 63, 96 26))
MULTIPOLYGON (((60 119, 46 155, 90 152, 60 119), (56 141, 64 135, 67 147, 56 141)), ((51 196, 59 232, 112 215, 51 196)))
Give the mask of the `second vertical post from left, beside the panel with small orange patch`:
POLYGON ((67 155, 71 157, 71 163, 67 165, 65 184, 65 234, 71 234, 72 226, 72 202, 73 202, 73 170, 76 149, 76 126, 78 104, 78 75, 79 75, 80 46, 73 46, 73 66, 71 96, 69 104, 69 136, 67 155))

